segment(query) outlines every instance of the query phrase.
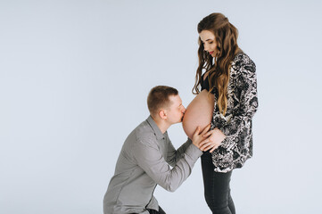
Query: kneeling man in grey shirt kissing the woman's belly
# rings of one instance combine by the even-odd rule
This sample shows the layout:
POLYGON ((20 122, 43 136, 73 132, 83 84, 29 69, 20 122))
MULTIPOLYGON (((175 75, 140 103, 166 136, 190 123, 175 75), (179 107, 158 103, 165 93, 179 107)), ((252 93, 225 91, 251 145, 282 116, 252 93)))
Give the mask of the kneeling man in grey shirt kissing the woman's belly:
POLYGON ((156 185, 175 191, 202 155, 198 144, 210 125, 202 133, 197 128, 193 139, 177 151, 169 140, 167 129, 181 122, 186 111, 177 89, 155 86, 147 104, 150 116, 129 134, 120 151, 103 199, 104 214, 165 214, 153 196, 156 185))

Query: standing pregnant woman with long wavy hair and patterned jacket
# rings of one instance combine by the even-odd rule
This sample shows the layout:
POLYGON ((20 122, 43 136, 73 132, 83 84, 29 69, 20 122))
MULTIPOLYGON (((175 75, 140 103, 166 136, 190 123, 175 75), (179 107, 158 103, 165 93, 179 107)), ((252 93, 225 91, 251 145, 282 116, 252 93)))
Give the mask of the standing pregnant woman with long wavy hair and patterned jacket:
POLYGON ((230 195, 232 170, 252 157, 252 117, 258 107, 256 66, 237 45, 238 31, 221 13, 198 24, 199 67, 183 127, 211 123, 200 144, 205 200, 212 213, 235 213, 230 195), (203 74, 202 74, 203 73, 203 74), (199 89, 201 87, 201 90, 199 89))

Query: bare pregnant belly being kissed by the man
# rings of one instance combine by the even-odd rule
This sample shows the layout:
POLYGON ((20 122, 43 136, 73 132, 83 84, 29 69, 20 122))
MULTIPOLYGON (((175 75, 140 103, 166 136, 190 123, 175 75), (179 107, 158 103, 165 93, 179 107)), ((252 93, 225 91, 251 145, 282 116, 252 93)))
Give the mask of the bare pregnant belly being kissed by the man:
POLYGON ((202 130, 211 123, 213 107, 214 97, 212 94, 208 95, 207 90, 202 90, 194 97, 194 100, 186 107, 185 116, 182 120, 186 136, 192 139, 195 128, 199 126, 202 130))

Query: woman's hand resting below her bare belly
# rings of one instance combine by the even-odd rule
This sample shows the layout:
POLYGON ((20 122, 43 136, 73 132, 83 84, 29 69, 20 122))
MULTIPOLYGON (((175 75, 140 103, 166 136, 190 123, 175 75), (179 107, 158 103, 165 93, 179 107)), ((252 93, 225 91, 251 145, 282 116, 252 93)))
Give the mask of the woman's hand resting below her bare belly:
POLYGON ((207 139, 203 140, 199 144, 199 149, 203 152, 208 151, 210 149, 210 152, 213 152, 226 138, 225 134, 222 131, 220 131, 219 128, 212 129, 211 131, 204 134, 203 137, 207 137, 207 139))

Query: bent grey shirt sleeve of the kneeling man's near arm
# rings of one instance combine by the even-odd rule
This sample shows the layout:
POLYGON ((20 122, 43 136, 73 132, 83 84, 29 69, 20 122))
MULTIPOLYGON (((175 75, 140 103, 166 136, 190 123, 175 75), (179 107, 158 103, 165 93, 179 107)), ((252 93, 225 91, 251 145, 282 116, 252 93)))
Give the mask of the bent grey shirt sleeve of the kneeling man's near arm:
MULTIPOLYGON (((186 146, 186 145, 185 145, 186 146)), ((192 172, 195 161, 202 155, 194 144, 187 146, 182 153, 182 158, 170 169, 169 164, 164 160, 161 151, 157 146, 156 139, 141 139, 133 148, 134 158, 146 174, 155 183, 161 185, 169 192, 177 190, 192 172)))

